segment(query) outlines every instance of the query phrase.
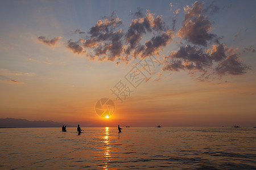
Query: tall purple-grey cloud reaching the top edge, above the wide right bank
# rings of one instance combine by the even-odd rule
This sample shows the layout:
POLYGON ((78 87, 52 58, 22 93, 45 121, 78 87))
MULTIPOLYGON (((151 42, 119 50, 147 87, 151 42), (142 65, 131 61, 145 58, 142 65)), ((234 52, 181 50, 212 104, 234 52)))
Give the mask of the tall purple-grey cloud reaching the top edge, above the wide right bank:
POLYGON ((184 7, 183 24, 177 34, 192 44, 207 46, 207 41, 213 40, 216 35, 209 33, 211 23, 203 15, 203 6, 204 2, 196 1, 192 8, 188 5, 184 7))

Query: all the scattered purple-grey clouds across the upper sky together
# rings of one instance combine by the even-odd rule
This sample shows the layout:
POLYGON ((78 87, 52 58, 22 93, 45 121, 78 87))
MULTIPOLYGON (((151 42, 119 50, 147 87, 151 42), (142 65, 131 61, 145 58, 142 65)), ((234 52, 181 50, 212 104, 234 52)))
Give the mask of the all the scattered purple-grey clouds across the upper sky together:
MULTIPOLYGON (((170 3, 170 12, 175 16, 180 8, 174 9, 170 3)), ((185 6, 184 19, 180 28, 176 27, 176 19, 172 19, 172 28, 169 28, 162 15, 152 14, 149 10, 143 14, 142 8, 131 13, 133 19, 127 29, 122 29, 123 21, 115 12, 109 17, 97 21, 88 32, 76 29, 80 40, 69 39, 66 47, 73 53, 83 54, 97 61, 112 61, 117 64, 146 58, 154 55, 160 56, 160 51, 166 48, 172 37, 180 39, 179 48, 163 57, 164 71, 188 70, 189 73, 201 73, 200 79, 209 75, 240 75, 249 69, 240 59, 233 48, 228 48, 220 42, 221 37, 212 33, 212 23, 207 15, 220 10, 214 1, 204 8, 204 2, 195 2, 192 6, 185 6), (175 31, 175 28, 177 31, 175 31), (127 31, 123 31, 127 30, 127 31)), ((237 35, 240 32, 237 33, 237 35)), ((235 39, 237 37, 235 36, 235 39)), ((47 45, 55 45, 61 37, 46 39, 44 36, 38 40, 47 45)), ((255 52, 252 46, 245 51, 255 52)))

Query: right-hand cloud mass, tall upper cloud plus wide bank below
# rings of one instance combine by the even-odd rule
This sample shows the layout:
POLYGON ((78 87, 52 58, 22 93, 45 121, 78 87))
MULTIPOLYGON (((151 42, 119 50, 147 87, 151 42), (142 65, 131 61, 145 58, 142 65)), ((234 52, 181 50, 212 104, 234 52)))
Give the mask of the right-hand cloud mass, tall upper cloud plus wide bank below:
POLYGON ((164 57, 163 70, 200 72, 200 80, 209 78, 209 75, 246 73, 249 67, 241 62, 236 50, 220 44, 218 41, 220 38, 210 33, 211 23, 205 14, 207 12, 213 14, 218 10, 219 8, 213 3, 204 9, 204 2, 197 1, 192 7, 188 5, 184 7, 184 20, 177 35, 181 37, 181 41, 185 40, 185 42, 179 46, 179 49, 164 57), (208 48, 209 44, 213 45, 208 48))

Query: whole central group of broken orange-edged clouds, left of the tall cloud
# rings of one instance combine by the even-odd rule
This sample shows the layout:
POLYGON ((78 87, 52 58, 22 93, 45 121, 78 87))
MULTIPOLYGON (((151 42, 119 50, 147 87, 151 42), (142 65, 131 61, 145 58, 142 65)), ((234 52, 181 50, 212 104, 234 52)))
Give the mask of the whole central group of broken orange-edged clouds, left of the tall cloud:
MULTIPOLYGON (((87 55, 91 59, 99 61, 108 60, 117 63, 129 62, 133 58, 146 58, 159 51, 171 41, 173 32, 166 27, 162 16, 152 14, 147 10, 146 15, 142 14, 142 9, 138 8, 127 32, 123 32, 123 22, 114 12, 110 17, 104 17, 90 28, 89 36, 79 41, 68 41, 68 48, 80 54, 82 48, 90 49, 87 55), (153 33, 150 40, 141 43, 143 36, 153 33), (72 43, 72 44, 71 44, 72 43), (71 45, 72 46, 71 46, 71 45), (75 45, 75 46, 73 46, 75 45)), ((76 32, 80 32, 79 29, 76 32)))

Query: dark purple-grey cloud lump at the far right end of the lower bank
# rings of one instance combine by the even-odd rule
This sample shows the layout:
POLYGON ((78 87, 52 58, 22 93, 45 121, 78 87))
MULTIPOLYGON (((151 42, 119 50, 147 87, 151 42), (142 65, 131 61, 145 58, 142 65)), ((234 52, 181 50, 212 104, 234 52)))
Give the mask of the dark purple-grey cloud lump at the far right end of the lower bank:
POLYGON ((226 74, 241 75, 246 73, 248 69, 249 67, 240 61, 237 54, 232 54, 218 63, 215 70, 218 75, 222 76, 226 74))

